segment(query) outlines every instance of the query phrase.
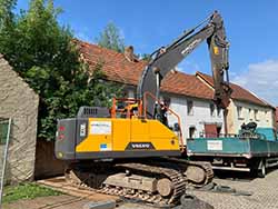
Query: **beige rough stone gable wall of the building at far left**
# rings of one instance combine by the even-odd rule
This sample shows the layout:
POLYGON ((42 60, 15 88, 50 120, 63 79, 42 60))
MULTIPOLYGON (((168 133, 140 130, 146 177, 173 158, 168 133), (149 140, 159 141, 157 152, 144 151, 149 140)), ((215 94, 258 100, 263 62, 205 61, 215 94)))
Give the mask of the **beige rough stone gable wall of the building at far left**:
POLYGON ((9 179, 32 180, 39 97, 0 54, 0 118, 12 118, 9 179))

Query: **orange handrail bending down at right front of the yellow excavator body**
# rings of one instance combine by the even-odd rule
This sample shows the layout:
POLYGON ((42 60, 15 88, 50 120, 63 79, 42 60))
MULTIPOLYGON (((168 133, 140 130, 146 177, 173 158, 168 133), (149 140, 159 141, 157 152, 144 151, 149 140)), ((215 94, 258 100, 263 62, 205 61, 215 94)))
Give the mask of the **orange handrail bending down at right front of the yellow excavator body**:
POLYGON ((143 93, 143 118, 147 118, 147 97, 152 98, 157 103, 159 103, 160 106, 162 106, 163 108, 167 109, 167 111, 171 112, 173 116, 176 116, 176 118, 178 119, 178 125, 179 125, 179 142, 180 142, 180 151, 183 152, 185 151, 185 145, 183 145, 183 135, 182 135, 182 130, 181 130, 181 121, 180 121, 180 117, 178 113, 176 113, 172 109, 170 109, 169 107, 165 106, 163 103, 160 102, 160 99, 157 99, 151 92, 146 91, 143 93))

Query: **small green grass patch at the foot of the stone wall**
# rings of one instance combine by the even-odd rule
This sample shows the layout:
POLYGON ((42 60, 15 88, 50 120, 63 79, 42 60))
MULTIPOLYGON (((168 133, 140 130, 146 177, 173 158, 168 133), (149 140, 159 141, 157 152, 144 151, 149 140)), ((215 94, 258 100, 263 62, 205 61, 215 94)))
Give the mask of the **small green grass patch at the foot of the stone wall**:
POLYGON ((39 186, 37 183, 21 183, 8 186, 3 189, 3 203, 10 203, 21 199, 34 199, 38 197, 59 196, 60 191, 39 186))

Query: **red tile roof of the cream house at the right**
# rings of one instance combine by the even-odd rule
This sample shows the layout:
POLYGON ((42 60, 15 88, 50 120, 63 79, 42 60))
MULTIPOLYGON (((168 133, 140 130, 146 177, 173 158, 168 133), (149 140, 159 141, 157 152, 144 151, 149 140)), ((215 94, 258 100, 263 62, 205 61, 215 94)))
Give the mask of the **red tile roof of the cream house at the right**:
MULTIPOLYGON (((214 87, 214 80, 212 77, 205 74, 202 72, 196 72, 196 76, 202 78, 209 86, 214 87)), ((266 107, 271 107, 269 103, 267 103, 266 101, 259 99, 258 97, 256 97, 254 93, 251 93, 250 91, 244 89, 242 87, 235 84, 235 83, 230 83, 230 87, 232 89, 232 93, 231 93, 231 98, 232 99, 237 99, 237 100, 241 100, 241 101, 247 101, 247 102, 251 102, 255 104, 259 104, 259 106, 266 106, 266 107)), ((271 107, 272 108, 272 107, 271 107)))

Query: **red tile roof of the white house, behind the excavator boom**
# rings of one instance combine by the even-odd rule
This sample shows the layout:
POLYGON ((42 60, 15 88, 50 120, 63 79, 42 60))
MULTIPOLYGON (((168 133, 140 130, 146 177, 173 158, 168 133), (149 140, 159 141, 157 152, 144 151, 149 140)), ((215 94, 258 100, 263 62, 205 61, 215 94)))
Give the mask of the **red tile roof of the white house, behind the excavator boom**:
MULTIPOLYGON (((90 69, 102 62, 102 71, 108 80, 137 86, 146 61, 130 62, 123 53, 119 53, 96 44, 75 40, 82 58, 90 69)), ((161 90, 165 92, 183 94, 189 97, 212 99, 214 91, 192 74, 182 72, 168 73, 162 80, 161 90)))

